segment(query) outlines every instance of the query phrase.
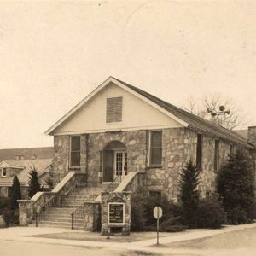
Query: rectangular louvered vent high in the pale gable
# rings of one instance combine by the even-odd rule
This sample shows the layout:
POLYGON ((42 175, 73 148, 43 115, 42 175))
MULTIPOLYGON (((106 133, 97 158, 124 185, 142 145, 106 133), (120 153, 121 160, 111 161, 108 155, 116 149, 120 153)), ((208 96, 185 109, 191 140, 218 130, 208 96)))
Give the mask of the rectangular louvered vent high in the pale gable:
POLYGON ((106 122, 121 122, 123 119, 123 97, 107 99, 106 122))

